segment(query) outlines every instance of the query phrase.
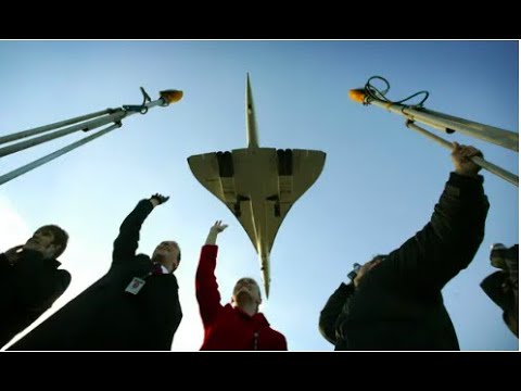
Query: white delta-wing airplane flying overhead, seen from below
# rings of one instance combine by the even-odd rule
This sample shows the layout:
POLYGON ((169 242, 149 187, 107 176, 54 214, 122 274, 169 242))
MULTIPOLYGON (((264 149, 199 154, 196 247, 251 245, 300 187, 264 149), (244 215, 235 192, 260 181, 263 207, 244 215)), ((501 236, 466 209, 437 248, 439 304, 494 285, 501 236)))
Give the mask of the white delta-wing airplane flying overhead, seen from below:
POLYGON ((293 203, 317 180, 322 151, 260 148, 250 76, 246 74, 247 148, 188 157, 198 180, 239 219, 260 258, 269 297, 269 253, 293 203))

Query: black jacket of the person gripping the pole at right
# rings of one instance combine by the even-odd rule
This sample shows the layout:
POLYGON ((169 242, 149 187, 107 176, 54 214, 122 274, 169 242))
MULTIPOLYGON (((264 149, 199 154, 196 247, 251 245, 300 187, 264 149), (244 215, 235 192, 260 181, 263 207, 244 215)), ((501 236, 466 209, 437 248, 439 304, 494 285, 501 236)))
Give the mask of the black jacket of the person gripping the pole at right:
POLYGON ((320 313, 335 350, 459 350, 441 290, 474 257, 488 201, 483 177, 450 174, 431 220, 320 313))

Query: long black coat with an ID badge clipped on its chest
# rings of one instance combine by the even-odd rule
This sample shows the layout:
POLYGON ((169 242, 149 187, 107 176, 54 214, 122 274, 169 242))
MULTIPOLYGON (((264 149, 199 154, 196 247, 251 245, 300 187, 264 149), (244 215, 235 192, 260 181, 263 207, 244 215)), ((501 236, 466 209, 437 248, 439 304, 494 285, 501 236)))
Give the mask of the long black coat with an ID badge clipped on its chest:
POLYGON ((152 209, 142 200, 123 222, 105 276, 10 349, 170 350, 182 317, 177 279, 154 274, 150 257, 136 255, 141 225, 152 209), (125 292, 134 277, 145 280, 138 294, 125 292))

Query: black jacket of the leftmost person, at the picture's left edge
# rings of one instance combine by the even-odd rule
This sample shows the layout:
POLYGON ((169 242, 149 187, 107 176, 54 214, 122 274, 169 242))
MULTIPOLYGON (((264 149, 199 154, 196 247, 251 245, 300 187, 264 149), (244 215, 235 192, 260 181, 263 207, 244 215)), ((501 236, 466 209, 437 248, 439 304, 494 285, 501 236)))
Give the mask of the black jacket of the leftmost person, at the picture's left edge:
POLYGON ((23 251, 11 265, 0 254, 0 348, 43 314, 71 283, 60 262, 23 251))

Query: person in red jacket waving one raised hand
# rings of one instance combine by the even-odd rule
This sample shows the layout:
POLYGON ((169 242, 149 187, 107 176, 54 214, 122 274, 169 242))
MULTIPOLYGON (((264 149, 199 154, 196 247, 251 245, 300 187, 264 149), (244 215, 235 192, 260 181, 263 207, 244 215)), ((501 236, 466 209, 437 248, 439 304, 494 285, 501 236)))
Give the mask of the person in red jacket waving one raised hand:
POLYGON ((231 304, 220 304, 214 273, 218 249, 215 242, 217 235, 227 227, 217 220, 201 249, 195 275, 195 294, 204 326, 201 350, 288 350, 284 336, 269 327, 266 317, 258 312, 262 303, 260 288, 254 279, 241 278, 233 288, 231 304))

